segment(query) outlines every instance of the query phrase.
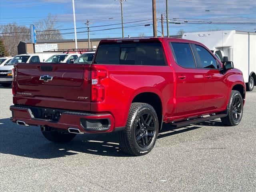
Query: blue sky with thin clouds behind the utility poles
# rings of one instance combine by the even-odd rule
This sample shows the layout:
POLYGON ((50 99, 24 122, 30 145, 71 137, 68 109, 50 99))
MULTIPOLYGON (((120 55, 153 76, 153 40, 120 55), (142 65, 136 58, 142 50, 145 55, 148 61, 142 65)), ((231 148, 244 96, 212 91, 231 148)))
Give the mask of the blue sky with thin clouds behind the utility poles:
MULTIPOLYGON (((221 30, 256 31, 255 24, 189 24, 190 21, 200 22, 256 22, 255 0, 169 0, 169 19, 176 18, 176 22, 182 24, 169 24, 171 35, 178 30, 186 32, 208 31, 220 28, 221 30), (210 11, 205 11, 210 10, 210 11), (185 23, 184 20, 188 20, 185 23)), ((161 13, 165 14, 165 0, 157 0, 157 18, 161 13)), ((121 27, 120 3, 116 0, 75 0, 76 27, 85 27, 87 19, 92 23, 90 30, 102 30, 121 27), (113 26, 102 26, 119 24, 113 26)), ((124 22, 136 23, 124 24, 124 26, 140 25, 124 29, 125 37, 138 36, 143 32, 146 36, 153 35, 152 26, 144 24, 152 23, 152 0, 126 0, 123 3, 124 22)), ((0 0, 0 24, 16 22, 19 25, 33 24, 46 17, 48 13, 56 14, 59 29, 74 28, 72 0, 0 0)), ((161 30, 158 20, 158 30, 161 30)), ((164 26, 166 34, 166 26, 164 26)), ((86 29, 78 29, 78 32, 86 29)), ((65 30, 61 32, 74 32, 65 30)), ((161 35, 158 33, 158 35, 161 35)), ((90 38, 121 37, 122 29, 91 32, 90 38)), ((74 38, 74 34, 63 35, 66 39, 74 38)), ((87 38, 87 33, 78 34, 78 38, 87 38)))

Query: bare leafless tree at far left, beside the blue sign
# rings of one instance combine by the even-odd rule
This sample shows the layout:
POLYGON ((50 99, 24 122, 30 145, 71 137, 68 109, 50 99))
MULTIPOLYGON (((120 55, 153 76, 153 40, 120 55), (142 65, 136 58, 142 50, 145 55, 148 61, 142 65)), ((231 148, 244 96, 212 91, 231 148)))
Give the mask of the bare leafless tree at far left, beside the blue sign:
POLYGON ((18 54, 19 42, 30 40, 30 30, 26 26, 19 26, 16 23, 7 24, 0 28, 0 39, 6 47, 7 55, 14 56, 18 54))

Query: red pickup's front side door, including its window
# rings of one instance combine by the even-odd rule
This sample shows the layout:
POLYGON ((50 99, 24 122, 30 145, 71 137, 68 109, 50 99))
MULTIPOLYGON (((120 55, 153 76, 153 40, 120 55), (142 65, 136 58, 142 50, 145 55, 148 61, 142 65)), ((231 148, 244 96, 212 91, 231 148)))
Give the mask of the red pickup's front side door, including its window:
POLYGON ((220 72, 220 64, 206 48, 194 45, 205 81, 204 111, 225 108, 228 86, 226 76, 220 72))

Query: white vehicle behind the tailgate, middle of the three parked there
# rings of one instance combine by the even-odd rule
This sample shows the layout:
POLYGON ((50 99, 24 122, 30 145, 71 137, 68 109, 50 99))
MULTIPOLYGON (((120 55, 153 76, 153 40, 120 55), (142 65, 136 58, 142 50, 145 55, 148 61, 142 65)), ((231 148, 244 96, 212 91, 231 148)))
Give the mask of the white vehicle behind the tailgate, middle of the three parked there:
POLYGON ((74 61, 80 56, 79 53, 60 53, 54 54, 50 58, 46 59, 46 63, 74 63, 74 61))

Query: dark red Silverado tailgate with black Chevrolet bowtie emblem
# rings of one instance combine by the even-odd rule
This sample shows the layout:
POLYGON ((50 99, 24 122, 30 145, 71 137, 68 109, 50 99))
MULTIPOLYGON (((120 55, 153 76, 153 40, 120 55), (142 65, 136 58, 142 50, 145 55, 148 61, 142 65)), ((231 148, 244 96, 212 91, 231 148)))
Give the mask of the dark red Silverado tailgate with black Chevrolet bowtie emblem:
POLYGON ((14 104, 90 110, 90 66, 18 64, 14 104))

